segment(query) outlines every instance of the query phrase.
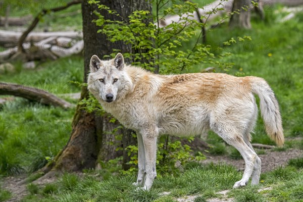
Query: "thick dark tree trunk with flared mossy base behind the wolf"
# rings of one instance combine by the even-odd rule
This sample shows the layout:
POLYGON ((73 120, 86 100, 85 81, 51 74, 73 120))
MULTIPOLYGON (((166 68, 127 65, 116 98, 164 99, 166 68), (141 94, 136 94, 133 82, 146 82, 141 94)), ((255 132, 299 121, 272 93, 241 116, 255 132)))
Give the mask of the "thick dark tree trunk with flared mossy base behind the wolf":
MULTIPOLYGON (((102 0, 99 4, 106 5, 112 10, 116 10, 121 16, 127 19, 135 10, 149 10, 151 5, 146 0, 126 1, 102 0)), ((131 46, 123 42, 110 42, 106 35, 97 33, 97 27, 92 20, 97 19, 93 11, 98 10, 96 5, 89 5, 87 1, 82 3, 83 18, 83 40, 84 40, 84 82, 87 82, 89 73, 89 62, 92 55, 104 58, 110 55, 113 48, 120 49, 121 53, 132 52, 131 46)), ((105 11, 99 11, 106 19, 117 20, 116 16, 105 11)), ((81 98, 88 98, 86 87, 81 88, 81 98)), ((123 155, 124 168, 128 162, 125 148, 129 144, 135 144, 136 140, 132 137, 131 131, 127 130, 116 121, 110 122, 112 118, 109 114, 103 116, 97 113, 87 113, 77 106, 76 113, 72 122, 72 134, 67 145, 57 155, 55 161, 44 168, 44 172, 51 169, 65 171, 80 171, 85 168, 95 168, 99 161, 108 161, 123 155), (113 129, 119 127, 117 134, 123 134, 122 140, 116 140, 112 134, 113 129), (110 142, 113 142, 111 144, 110 142), (117 147, 122 147, 123 151, 117 151, 117 147)))

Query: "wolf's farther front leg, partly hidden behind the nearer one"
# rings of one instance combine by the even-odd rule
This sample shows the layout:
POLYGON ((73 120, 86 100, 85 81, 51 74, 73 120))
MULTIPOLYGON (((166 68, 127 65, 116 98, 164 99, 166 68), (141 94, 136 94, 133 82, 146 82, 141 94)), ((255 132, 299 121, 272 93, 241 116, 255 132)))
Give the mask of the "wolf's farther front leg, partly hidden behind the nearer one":
POLYGON ((138 177, 137 181, 134 183, 135 186, 139 186, 144 183, 145 180, 145 152, 144 144, 142 140, 141 133, 137 132, 138 139, 138 177))

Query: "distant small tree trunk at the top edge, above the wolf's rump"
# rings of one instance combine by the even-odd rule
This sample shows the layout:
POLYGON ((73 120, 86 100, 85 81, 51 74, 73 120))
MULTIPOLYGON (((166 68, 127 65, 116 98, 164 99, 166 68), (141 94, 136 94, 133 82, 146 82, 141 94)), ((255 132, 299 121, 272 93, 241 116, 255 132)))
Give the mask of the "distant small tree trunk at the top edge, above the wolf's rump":
POLYGON ((229 21, 229 27, 240 27, 250 29, 250 10, 252 4, 250 0, 234 0, 232 5, 232 12, 234 13, 229 21))

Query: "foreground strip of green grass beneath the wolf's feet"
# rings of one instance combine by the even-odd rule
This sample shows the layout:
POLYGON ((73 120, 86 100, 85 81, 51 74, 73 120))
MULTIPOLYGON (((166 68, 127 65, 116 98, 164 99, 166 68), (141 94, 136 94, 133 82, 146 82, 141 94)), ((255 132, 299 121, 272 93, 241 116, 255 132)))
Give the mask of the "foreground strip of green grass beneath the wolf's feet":
MULTIPOLYGON (((71 174, 65 174, 56 183, 40 186, 39 190, 31 191, 24 201, 175 201, 175 198, 199 194, 200 199, 210 198, 215 192, 232 187, 235 180, 241 175, 229 165, 198 165, 188 167, 184 173, 175 178, 172 175, 159 176, 155 180, 153 189, 149 191, 136 190, 132 185, 135 175, 116 175, 107 180, 97 179, 97 171, 90 176, 83 177, 73 186, 66 186, 66 178, 71 174), (189 183, 190 182, 190 183, 189 183), (163 191, 170 191, 168 196, 163 196, 163 191), (36 195, 36 196, 34 196, 36 195)), ((31 185, 32 186, 32 185, 31 185)), ((34 187, 35 188, 35 187, 34 187)))

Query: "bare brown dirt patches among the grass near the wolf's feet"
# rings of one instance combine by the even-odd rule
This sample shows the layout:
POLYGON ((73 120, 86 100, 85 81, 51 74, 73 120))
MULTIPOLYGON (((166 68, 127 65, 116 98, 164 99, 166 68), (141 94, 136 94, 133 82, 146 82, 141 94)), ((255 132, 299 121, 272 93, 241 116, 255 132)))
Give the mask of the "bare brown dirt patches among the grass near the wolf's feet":
MULTIPOLYGON (((282 150, 282 151, 266 149, 265 153, 266 154, 258 155, 262 161, 262 173, 272 171, 274 169, 277 169, 278 167, 284 167, 288 165, 290 159, 301 158, 303 156, 303 150, 296 148, 289 148, 287 150, 282 150)), ((226 163, 236 167, 238 171, 243 171, 245 166, 244 160, 242 158, 232 159, 228 155, 224 155, 224 156, 208 155, 207 159, 203 161, 203 164, 209 164, 209 163, 214 163, 214 164, 226 163)), ((77 175, 81 176, 83 174, 78 173, 77 175)), ((12 197, 7 201, 19 201, 24 196, 29 194, 28 189, 26 188, 27 183, 24 183, 24 180, 26 178, 27 175, 17 175, 17 176, 9 176, 1 179, 1 187, 12 193, 12 197)), ((57 180, 58 180, 57 176, 52 176, 50 178, 42 178, 42 179, 40 178, 36 182, 33 181, 32 183, 35 183, 39 186, 43 186, 45 184, 53 183, 57 180)), ((220 191, 218 192, 218 194, 221 194, 220 198, 211 198, 208 199, 207 201, 209 202, 233 201, 232 198, 229 198, 226 195, 227 192, 228 190, 220 191)), ((167 193, 164 192, 164 194, 167 193)), ((176 200, 178 202, 190 202, 190 201, 194 201, 194 198, 196 196, 197 195, 185 196, 185 197, 176 198, 176 200)))

